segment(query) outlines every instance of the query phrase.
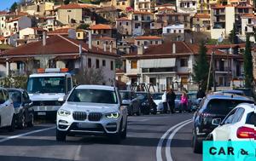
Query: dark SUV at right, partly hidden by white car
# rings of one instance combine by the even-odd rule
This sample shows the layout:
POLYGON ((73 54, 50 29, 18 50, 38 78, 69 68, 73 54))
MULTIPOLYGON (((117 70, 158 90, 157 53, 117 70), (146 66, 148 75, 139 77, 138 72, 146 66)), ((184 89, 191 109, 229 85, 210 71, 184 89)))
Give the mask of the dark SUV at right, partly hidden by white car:
POLYGON ((249 98, 240 95, 207 95, 195 112, 193 118, 192 147, 194 152, 201 152, 202 141, 217 126, 212 124, 213 118, 225 116, 240 103, 254 103, 249 98))

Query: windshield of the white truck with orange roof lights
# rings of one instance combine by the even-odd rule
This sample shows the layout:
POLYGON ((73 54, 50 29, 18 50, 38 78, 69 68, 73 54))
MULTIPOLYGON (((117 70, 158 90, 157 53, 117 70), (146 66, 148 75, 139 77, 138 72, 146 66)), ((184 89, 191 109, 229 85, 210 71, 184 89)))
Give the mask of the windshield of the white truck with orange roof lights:
POLYGON ((65 77, 29 78, 27 92, 39 93, 65 93, 65 77))

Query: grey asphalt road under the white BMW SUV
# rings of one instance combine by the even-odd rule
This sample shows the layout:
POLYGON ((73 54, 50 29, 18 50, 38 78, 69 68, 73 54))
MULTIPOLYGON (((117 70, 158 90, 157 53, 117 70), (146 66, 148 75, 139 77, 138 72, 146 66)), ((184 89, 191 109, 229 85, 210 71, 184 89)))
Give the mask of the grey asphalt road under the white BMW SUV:
POLYGON ((1 129, 0 160, 201 161, 201 155, 194 154, 190 146, 191 118, 189 113, 130 117, 127 139, 119 145, 108 138, 89 136, 68 136, 67 142, 57 142, 55 124, 12 133, 1 129))

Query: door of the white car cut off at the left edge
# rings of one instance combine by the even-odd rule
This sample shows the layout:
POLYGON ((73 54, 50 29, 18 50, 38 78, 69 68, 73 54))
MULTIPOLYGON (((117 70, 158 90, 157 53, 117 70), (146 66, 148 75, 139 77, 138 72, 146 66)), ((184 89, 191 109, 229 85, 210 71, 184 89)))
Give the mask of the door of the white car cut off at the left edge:
POLYGON ((13 115, 14 115, 14 105, 13 102, 9 99, 9 93, 7 90, 3 89, 3 108, 4 108, 4 126, 9 126, 12 123, 13 115))

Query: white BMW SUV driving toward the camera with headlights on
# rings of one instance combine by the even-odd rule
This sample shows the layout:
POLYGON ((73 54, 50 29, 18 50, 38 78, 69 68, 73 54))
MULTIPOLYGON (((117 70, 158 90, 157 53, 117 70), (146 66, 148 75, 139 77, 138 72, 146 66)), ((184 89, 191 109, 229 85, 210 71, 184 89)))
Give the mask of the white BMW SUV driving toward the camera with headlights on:
POLYGON ((114 87, 79 85, 57 112, 56 141, 78 134, 108 135, 119 143, 125 139, 127 129, 127 109, 121 102, 114 87))

